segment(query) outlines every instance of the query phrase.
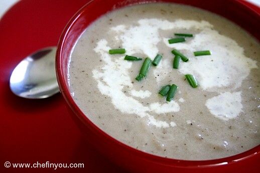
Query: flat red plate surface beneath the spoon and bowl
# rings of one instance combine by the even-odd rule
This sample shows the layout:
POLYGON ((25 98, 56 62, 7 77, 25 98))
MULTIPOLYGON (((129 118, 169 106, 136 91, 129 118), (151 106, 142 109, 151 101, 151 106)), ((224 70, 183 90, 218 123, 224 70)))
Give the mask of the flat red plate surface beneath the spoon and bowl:
POLYGON ((6 161, 84 163, 84 168, 57 168, 55 172, 123 171, 83 141, 61 94, 28 100, 15 96, 9 88, 16 64, 39 48, 57 45, 67 21, 87 1, 22 0, 0 20, 0 172, 53 170, 5 168, 6 161))

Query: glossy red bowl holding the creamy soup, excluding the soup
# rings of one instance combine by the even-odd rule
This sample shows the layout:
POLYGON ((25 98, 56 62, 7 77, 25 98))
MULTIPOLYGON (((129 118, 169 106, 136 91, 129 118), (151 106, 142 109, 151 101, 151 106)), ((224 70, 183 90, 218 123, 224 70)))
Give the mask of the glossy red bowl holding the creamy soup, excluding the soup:
POLYGON ((65 27, 57 49, 56 73, 60 90, 74 113, 76 120, 86 138, 101 153, 112 161, 132 171, 150 172, 201 172, 201 171, 257 171, 260 158, 260 145, 237 155, 214 160, 191 161, 165 158, 152 155, 126 144, 102 131, 79 109, 70 94, 67 73, 68 58, 71 49, 82 31, 95 19, 107 11, 129 4, 167 1, 197 6, 220 14, 250 32, 260 39, 260 10, 250 8, 241 0, 91 0, 85 4, 65 27))

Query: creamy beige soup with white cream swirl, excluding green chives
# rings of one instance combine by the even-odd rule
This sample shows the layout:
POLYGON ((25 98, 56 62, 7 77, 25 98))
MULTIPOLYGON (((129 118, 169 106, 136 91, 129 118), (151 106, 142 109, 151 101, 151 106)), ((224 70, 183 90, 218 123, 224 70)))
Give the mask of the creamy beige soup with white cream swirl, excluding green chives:
MULTIPOLYGON (((163 157, 205 160, 244 152, 260 143, 260 48, 233 22, 199 8, 151 3, 108 12, 78 38, 68 82, 80 109, 117 140, 163 157), (192 33, 169 44, 174 33, 192 33), (124 54, 109 54, 125 48, 124 54), (189 60, 173 68, 171 50, 189 60), (211 55, 194 56, 210 50, 211 55), (163 57, 136 80, 145 57, 163 57), (124 60, 125 55, 142 57, 124 60), (193 88, 185 74, 193 74, 193 88), (158 94, 176 84, 172 101, 158 94)), ((98 143, 97 143, 98 145, 98 143)))

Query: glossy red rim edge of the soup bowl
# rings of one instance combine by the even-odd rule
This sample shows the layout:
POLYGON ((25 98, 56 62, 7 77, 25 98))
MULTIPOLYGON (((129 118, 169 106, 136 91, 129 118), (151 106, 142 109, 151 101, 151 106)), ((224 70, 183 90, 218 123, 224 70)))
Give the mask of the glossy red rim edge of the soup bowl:
MULTIPOLYGON (((58 84, 60 87, 60 91, 66 100, 67 104, 70 106, 70 108, 73 110, 74 114, 81 120, 81 122, 84 123, 84 125, 90 125, 92 128, 97 130, 98 133, 102 134, 104 137, 109 139, 114 145, 118 145, 123 147, 125 150, 128 150, 129 152, 134 153, 135 155, 139 157, 143 157, 146 160, 150 160, 151 162, 157 162, 164 165, 174 166, 174 167, 186 167, 186 168, 202 168, 202 167, 215 167, 220 165, 226 165, 226 164, 233 164, 238 161, 242 161, 244 159, 250 158, 252 156, 255 156, 260 153, 260 145, 257 145, 249 150, 246 150, 242 153, 235 154, 228 157, 218 158, 218 159, 210 159, 210 160, 182 160, 182 159, 175 159, 175 158, 168 158, 163 157, 159 155, 154 155, 145 151, 138 150, 132 146, 129 146, 127 144, 124 144, 123 142, 117 140, 116 138, 110 136, 105 131, 103 131, 101 128, 99 128, 96 124, 94 124, 77 106, 75 103, 70 90, 67 86, 67 77, 66 75, 63 75, 64 66, 62 65, 62 49, 65 44, 65 40, 68 36, 68 33, 70 32, 71 28, 73 27, 73 24, 82 17, 82 13, 85 11, 85 8, 91 4, 94 3, 97 0, 90 0, 85 5, 83 5, 75 14, 74 16, 69 20, 67 25, 65 26, 60 39, 58 41, 57 51, 56 51, 56 60, 55 60, 55 67, 56 67, 56 75, 58 84)), ((152 2, 157 2, 158 0, 153 0, 152 2)), ((159 0, 160 1, 160 0, 159 0)), ((151 2, 151 0, 150 0, 151 2)), ((244 3, 243 0, 235 0, 238 5, 242 5, 243 7, 247 8, 248 11, 254 13, 255 15, 260 16, 260 13, 257 12, 254 8, 249 6, 247 3, 244 3)), ((114 9, 112 9, 114 10, 114 9)), ((219 14, 218 14, 219 15, 219 14)), ((67 67, 66 67, 67 68, 67 67)))

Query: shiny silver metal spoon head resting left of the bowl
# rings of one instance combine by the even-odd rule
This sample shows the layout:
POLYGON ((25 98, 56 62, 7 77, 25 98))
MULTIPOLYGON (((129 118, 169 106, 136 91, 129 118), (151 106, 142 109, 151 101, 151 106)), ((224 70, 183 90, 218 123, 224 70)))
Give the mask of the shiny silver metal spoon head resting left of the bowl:
POLYGON ((55 53, 56 47, 46 47, 24 58, 10 77, 14 94, 24 98, 46 98, 59 92, 55 53))

